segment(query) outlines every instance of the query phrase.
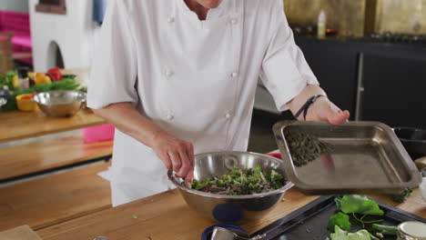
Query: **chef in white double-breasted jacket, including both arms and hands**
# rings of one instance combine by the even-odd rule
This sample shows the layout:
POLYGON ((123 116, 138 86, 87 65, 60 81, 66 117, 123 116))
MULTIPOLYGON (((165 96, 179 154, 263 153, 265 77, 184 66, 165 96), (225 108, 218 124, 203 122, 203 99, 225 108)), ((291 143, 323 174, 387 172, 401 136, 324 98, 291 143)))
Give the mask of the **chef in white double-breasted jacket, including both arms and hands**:
POLYGON ((190 181, 195 154, 246 151, 259 77, 279 111, 310 102, 307 120, 349 118, 295 45, 282 0, 110 0, 87 105, 117 127, 113 205, 166 191, 167 169, 190 181))

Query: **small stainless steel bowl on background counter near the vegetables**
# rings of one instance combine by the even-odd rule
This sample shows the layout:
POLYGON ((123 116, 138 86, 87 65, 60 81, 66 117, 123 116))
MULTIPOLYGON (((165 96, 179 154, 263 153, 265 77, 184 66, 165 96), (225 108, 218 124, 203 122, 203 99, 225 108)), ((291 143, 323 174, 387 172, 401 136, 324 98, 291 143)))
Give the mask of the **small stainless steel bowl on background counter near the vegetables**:
POLYGON ((77 91, 52 91, 33 96, 33 101, 49 116, 69 117, 86 103, 86 94, 77 91))

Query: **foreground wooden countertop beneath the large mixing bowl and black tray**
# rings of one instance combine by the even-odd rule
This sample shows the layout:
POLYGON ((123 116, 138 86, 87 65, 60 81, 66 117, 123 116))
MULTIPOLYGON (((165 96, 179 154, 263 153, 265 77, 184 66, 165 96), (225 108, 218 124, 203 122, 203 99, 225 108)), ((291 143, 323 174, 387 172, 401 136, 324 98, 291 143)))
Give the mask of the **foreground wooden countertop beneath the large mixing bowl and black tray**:
MULTIPOLYGON (((316 198, 317 196, 303 195, 297 188, 292 188, 286 193, 285 202, 280 202, 263 220, 242 227, 249 233, 254 233, 316 198)), ((392 203, 389 196, 373 196, 373 198, 426 217, 426 203, 421 198, 419 190, 415 190, 401 205, 392 203)), ((214 224, 216 223, 192 211, 177 190, 171 190, 50 226, 37 231, 37 234, 44 240, 93 239, 100 235, 110 240, 140 240, 147 239, 147 236, 153 240, 188 240, 200 239, 204 229, 214 224), (134 215, 137 215, 137 218, 134 218, 134 215)))

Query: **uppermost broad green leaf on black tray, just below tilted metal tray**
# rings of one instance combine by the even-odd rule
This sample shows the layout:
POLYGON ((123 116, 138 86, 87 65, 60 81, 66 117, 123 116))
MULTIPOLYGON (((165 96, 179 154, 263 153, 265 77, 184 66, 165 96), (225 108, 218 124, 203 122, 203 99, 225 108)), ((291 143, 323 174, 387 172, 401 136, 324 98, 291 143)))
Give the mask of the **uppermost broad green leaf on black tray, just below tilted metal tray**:
POLYGON ((379 205, 365 195, 336 197, 337 207, 345 214, 383 215, 379 205))

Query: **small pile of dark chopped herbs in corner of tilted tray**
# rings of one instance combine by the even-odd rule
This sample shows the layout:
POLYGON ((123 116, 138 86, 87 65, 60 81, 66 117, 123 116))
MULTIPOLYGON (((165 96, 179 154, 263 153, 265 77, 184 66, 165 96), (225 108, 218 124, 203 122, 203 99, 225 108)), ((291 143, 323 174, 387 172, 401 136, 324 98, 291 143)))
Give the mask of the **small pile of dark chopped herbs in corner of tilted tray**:
POLYGON ((293 164, 296 166, 307 165, 320 155, 329 154, 333 149, 332 145, 320 141, 315 135, 291 132, 286 138, 293 164))

